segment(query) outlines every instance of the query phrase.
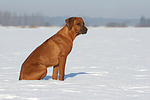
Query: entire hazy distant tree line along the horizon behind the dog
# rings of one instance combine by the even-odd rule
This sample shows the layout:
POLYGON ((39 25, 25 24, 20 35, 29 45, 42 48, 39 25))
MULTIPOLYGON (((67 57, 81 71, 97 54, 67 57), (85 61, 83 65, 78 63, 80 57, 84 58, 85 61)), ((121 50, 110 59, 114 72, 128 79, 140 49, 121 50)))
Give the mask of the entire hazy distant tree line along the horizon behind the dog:
MULTIPOLYGON (((66 17, 48 17, 43 16, 42 13, 32 13, 32 14, 16 14, 9 11, 2 12, 0 10, 0 26, 21 26, 21 27, 38 27, 38 26, 63 26, 64 19, 66 17)), ((88 26, 106 26, 106 27, 127 27, 127 21, 123 20, 110 20, 110 19, 86 19, 88 26), (104 22, 106 22, 104 24, 104 22), (123 23, 122 23, 123 22, 123 23), (101 24, 103 23, 103 25, 101 24)), ((134 22, 135 23, 135 22, 134 22)), ((136 22, 136 27, 150 27, 150 18, 142 16, 140 20, 136 22), (138 23, 138 25, 137 25, 138 23)))

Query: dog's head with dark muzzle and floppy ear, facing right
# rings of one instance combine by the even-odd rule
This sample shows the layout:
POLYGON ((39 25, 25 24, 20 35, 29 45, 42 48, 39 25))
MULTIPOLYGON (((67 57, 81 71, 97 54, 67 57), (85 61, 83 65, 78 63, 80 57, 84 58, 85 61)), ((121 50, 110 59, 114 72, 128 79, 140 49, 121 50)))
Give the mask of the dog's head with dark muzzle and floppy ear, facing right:
POLYGON ((74 30, 77 35, 86 34, 87 28, 84 26, 84 21, 81 17, 70 17, 65 20, 68 29, 74 30))

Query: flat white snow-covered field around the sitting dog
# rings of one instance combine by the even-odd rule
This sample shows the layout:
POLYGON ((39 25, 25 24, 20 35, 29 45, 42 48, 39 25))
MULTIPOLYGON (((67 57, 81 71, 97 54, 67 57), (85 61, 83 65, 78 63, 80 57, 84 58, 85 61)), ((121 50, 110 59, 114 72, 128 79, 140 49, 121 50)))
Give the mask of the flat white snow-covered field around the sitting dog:
POLYGON ((0 99, 150 100, 150 28, 89 27, 66 63, 65 81, 18 81, 26 57, 60 27, 0 27, 0 99))

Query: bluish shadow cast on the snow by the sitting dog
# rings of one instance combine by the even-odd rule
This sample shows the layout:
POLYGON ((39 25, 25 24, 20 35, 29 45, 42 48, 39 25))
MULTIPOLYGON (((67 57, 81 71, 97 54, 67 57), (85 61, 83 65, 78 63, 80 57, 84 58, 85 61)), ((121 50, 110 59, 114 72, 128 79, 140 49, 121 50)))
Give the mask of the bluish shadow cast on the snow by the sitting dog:
MULTIPOLYGON (((66 74, 64 79, 67 79, 69 77, 72 78, 72 77, 75 77, 75 76, 80 75, 80 74, 88 74, 88 73, 86 73, 86 72, 70 73, 70 74, 66 74)), ((42 80, 49 80, 51 78, 52 78, 52 76, 45 76, 42 80)), ((57 77, 57 79, 58 79, 58 77, 57 77)))

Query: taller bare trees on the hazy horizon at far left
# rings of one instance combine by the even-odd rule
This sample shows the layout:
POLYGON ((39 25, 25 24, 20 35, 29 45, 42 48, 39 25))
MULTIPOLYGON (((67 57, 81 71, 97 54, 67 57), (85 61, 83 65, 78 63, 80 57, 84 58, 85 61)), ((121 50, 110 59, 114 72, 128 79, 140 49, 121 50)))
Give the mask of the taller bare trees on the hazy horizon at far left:
POLYGON ((20 14, 0 10, 0 25, 2 26, 49 26, 49 22, 44 22, 42 13, 20 14))

